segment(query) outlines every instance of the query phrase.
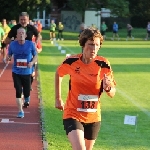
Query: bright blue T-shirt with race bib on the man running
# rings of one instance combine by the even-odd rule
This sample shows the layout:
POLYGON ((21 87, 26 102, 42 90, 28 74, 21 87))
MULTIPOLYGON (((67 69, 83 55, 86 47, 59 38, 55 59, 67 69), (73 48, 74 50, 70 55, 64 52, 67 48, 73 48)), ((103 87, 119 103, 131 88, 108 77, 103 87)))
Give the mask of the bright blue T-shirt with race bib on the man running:
POLYGON ((36 48, 32 41, 26 40, 22 45, 18 41, 11 42, 8 55, 13 55, 14 59, 12 72, 20 75, 32 74, 33 68, 29 68, 28 64, 36 54, 36 48))

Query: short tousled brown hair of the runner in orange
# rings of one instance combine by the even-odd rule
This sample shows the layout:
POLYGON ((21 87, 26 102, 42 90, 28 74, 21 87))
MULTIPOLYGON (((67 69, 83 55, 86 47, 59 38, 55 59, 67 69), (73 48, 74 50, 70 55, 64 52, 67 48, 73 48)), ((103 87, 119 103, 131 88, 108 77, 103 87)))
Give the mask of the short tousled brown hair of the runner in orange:
POLYGON ((84 47, 85 43, 88 40, 94 40, 94 38, 96 37, 100 38, 100 47, 101 47, 103 43, 103 36, 101 35, 100 31, 92 27, 84 29, 79 37, 80 46, 84 47))

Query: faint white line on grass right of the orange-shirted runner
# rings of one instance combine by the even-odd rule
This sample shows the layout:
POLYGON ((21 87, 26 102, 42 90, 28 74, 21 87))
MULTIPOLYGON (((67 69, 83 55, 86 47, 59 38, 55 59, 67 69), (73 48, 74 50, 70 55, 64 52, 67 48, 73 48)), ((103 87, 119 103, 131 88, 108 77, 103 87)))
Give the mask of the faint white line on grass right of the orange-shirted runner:
POLYGON ((150 112, 149 112, 147 109, 141 107, 140 104, 138 104, 138 103, 136 102, 136 100, 134 100, 133 98, 131 98, 131 96, 129 96, 129 95, 126 94, 125 92, 119 90, 118 88, 117 88, 117 92, 118 92, 120 95, 122 95, 122 97, 125 97, 128 101, 130 101, 134 106, 136 106, 137 108, 139 108, 144 114, 146 114, 147 116, 150 117, 150 112))

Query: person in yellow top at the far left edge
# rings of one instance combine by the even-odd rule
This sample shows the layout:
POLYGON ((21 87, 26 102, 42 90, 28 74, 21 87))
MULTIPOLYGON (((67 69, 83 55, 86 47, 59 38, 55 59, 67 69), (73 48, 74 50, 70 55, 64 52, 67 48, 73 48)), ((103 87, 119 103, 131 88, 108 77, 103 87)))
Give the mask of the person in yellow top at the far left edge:
POLYGON ((7 47, 7 44, 5 44, 5 39, 10 31, 10 27, 8 26, 7 22, 6 22, 6 19, 3 19, 2 20, 2 25, 1 27, 3 28, 4 32, 5 32, 5 35, 3 37, 3 40, 1 41, 2 42, 2 48, 1 48, 1 51, 2 51, 2 54, 3 54, 3 62, 6 63, 6 56, 7 56, 7 51, 8 51, 8 47, 7 47))

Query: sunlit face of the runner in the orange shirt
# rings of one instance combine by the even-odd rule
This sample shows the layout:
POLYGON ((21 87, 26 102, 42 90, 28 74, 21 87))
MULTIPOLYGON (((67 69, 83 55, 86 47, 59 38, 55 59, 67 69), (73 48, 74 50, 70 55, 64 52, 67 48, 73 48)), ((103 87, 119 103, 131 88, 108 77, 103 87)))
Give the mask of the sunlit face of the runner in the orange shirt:
POLYGON ((83 52, 86 58, 93 59, 97 56, 100 48, 100 38, 96 37, 94 41, 88 40, 83 47, 83 52))

